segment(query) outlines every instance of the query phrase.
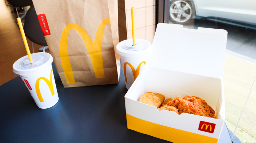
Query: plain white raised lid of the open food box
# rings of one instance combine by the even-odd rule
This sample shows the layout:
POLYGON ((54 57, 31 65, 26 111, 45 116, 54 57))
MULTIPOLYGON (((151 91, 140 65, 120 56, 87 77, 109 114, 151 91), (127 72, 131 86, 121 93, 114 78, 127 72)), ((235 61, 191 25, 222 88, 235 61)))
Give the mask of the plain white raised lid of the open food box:
POLYGON ((214 78, 223 77, 227 31, 157 25, 147 66, 214 78))

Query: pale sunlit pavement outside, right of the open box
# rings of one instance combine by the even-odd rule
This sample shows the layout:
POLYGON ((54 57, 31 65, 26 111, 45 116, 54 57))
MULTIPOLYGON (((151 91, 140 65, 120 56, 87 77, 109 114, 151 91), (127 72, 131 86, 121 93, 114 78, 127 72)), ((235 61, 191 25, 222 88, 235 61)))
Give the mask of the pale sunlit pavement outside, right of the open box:
MULTIPOLYGON (((226 55, 224 67, 224 94, 225 94, 225 123, 243 143, 256 142, 256 87, 253 88, 248 103, 245 106, 254 79, 256 77, 256 64, 226 55)), ((256 85, 255 85, 256 86, 256 85)))

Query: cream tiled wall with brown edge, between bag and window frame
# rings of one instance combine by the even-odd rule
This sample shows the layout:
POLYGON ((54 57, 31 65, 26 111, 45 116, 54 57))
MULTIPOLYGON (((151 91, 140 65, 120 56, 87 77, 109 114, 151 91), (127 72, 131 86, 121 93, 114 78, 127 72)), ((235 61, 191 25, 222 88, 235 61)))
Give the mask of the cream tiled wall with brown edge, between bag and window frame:
POLYGON ((155 33, 154 0, 118 0, 119 41, 132 39, 131 7, 134 7, 135 38, 152 43, 155 33))

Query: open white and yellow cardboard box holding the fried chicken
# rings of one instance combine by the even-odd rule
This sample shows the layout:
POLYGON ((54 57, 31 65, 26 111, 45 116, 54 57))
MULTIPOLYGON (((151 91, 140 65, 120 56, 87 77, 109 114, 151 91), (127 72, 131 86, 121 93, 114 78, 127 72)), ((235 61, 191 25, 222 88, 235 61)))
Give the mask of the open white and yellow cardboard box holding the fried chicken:
POLYGON ((175 143, 217 143, 225 120, 224 56, 227 31, 158 24, 153 54, 125 95, 127 127, 175 143), (198 96, 217 119, 162 110, 139 102, 145 92, 167 98, 198 96))

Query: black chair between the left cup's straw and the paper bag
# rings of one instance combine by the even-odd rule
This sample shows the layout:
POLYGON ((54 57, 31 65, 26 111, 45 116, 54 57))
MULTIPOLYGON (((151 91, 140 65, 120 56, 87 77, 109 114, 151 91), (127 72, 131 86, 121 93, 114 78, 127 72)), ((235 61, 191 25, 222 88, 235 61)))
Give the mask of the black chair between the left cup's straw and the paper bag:
POLYGON ((23 28, 26 37, 32 42, 33 53, 33 42, 38 45, 42 45, 43 47, 39 48, 39 51, 45 52, 45 49, 48 48, 48 45, 44 38, 43 31, 41 29, 40 23, 35 12, 35 8, 33 6, 29 8, 29 10, 27 11, 23 28))

